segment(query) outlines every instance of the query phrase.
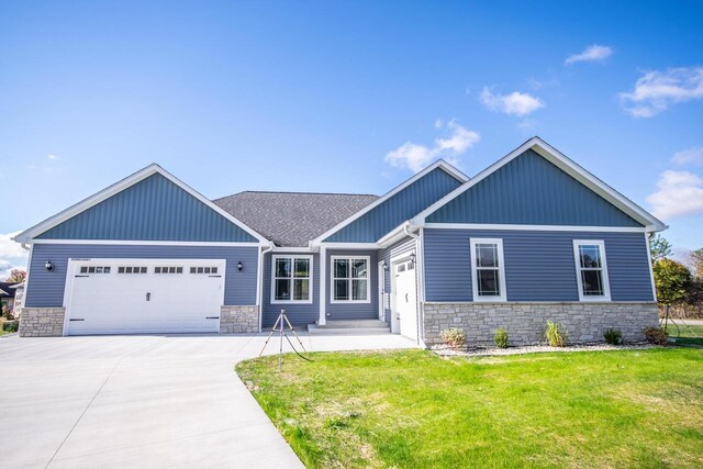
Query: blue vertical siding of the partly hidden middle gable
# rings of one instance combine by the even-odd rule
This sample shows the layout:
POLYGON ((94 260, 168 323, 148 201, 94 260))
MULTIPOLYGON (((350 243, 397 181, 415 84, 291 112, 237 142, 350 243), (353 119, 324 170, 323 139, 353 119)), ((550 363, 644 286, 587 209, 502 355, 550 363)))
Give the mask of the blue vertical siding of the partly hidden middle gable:
POLYGON ((459 186, 461 181, 436 168, 332 234, 325 242, 375 243, 459 186))

